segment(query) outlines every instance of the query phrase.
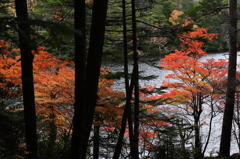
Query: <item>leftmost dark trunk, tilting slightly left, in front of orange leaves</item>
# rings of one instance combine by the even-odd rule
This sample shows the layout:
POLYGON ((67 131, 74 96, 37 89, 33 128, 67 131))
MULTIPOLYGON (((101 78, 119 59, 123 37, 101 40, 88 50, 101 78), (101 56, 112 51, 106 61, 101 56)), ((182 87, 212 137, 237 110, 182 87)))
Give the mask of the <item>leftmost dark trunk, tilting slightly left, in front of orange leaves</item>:
POLYGON ((37 158, 36 110, 33 86, 33 54, 30 45, 30 25, 26 0, 15 0, 18 18, 19 47, 22 67, 22 89, 24 104, 25 140, 27 158, 37 158))

